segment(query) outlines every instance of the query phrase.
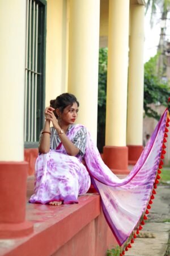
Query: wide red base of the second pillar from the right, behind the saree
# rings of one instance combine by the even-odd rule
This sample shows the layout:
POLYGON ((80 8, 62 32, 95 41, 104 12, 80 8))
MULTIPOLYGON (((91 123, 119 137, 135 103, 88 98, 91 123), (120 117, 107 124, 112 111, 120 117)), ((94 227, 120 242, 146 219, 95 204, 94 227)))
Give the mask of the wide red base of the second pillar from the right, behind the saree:
POLYGON ((128 170, 128 147, 104 146, 104 163, 114 174, 129 174, 128 170))

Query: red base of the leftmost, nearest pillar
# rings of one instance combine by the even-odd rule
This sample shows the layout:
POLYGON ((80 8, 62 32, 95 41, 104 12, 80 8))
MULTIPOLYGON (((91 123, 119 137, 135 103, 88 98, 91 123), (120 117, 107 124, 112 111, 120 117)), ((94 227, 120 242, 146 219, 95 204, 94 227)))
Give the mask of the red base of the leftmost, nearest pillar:
POLYGON ((33 232, 25 221, 27 162, 0 162, 0 238, 15 238, 33 232))

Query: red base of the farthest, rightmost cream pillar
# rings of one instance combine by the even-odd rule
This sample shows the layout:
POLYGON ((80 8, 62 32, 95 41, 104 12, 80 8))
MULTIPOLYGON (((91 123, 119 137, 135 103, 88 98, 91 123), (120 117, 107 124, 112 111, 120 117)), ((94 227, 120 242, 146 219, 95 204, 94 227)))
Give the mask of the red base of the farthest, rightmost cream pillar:
POLYGON ((136 164, 142 151, 143 146, 128 145, 128 163, 136 164))

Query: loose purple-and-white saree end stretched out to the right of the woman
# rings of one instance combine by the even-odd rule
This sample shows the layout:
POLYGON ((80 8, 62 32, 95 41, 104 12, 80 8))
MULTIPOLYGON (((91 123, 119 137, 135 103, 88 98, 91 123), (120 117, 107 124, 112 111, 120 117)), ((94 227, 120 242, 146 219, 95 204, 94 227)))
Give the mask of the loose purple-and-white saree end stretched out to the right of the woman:
POLYGON ((100 193, 105 218, 119 245, 133 232, 150 199, 162 152, 166 118, 167 111, 125 179, 118 179, 104 164, 88 134, 85 154, 87 168, 92 183, 100 193))

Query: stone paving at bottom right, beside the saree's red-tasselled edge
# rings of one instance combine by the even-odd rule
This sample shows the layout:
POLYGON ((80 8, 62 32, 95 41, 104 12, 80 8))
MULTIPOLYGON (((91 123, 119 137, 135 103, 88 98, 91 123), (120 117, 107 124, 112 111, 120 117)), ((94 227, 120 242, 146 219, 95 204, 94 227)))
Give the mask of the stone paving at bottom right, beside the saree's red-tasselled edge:
POLYGON ((170 185, 159 185, 141 237, 125 255, 170 256, 170 185))

